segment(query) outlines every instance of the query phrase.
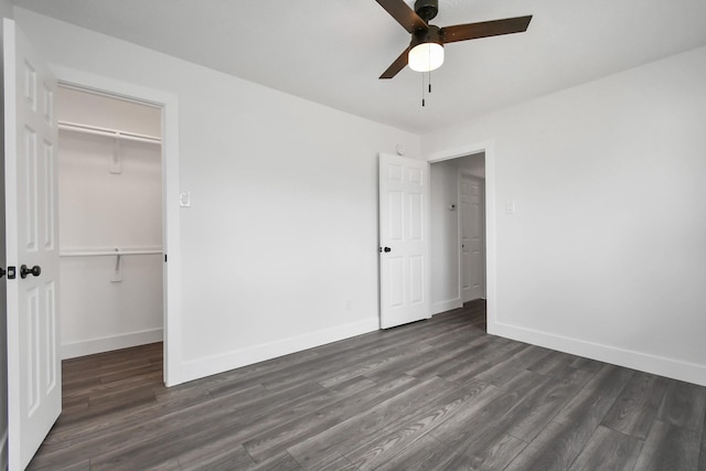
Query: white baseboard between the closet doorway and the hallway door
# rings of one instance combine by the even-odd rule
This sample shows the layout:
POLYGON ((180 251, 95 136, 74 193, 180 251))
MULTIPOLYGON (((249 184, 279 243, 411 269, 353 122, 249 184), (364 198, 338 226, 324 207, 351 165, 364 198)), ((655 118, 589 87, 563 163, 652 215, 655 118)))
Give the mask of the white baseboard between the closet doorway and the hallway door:
POLYGON ((214 355, 184 362, 182 364, 181 379, 189 382, 205 376, 350 339, 363 333, 373 332, 379 329, 379 318, 368 318, 360 322, 354 322, 332 329, 324 329, 303 335, 291 336, 275 342, 254 345, 246 349, 235 350, 222 355, 214 355))

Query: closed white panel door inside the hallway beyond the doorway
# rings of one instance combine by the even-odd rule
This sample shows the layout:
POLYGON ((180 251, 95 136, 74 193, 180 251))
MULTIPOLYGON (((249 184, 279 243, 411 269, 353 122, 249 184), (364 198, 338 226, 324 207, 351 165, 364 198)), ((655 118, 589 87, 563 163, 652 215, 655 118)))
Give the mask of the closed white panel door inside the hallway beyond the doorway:
POLYGON ((485 216, 483 181, 460 174, 461 291, 463 302, 485 296, 485 216))

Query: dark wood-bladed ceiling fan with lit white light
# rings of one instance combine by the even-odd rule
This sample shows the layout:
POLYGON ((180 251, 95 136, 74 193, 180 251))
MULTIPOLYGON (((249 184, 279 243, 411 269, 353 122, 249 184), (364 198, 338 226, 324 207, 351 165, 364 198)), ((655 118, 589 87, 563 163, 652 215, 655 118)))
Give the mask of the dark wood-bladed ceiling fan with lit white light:
POLYGON ((439 12, 439 0, 417 0, 414 10, 404 0, 376 1, 411 34, 409 46, 379 78, 393 78, 405 65, 417 72, 434 71, 443 63, 445 44, 522 33, 527 30, 532 20, 532 15, 528 15, 439 28, 429 24, 439 12))

